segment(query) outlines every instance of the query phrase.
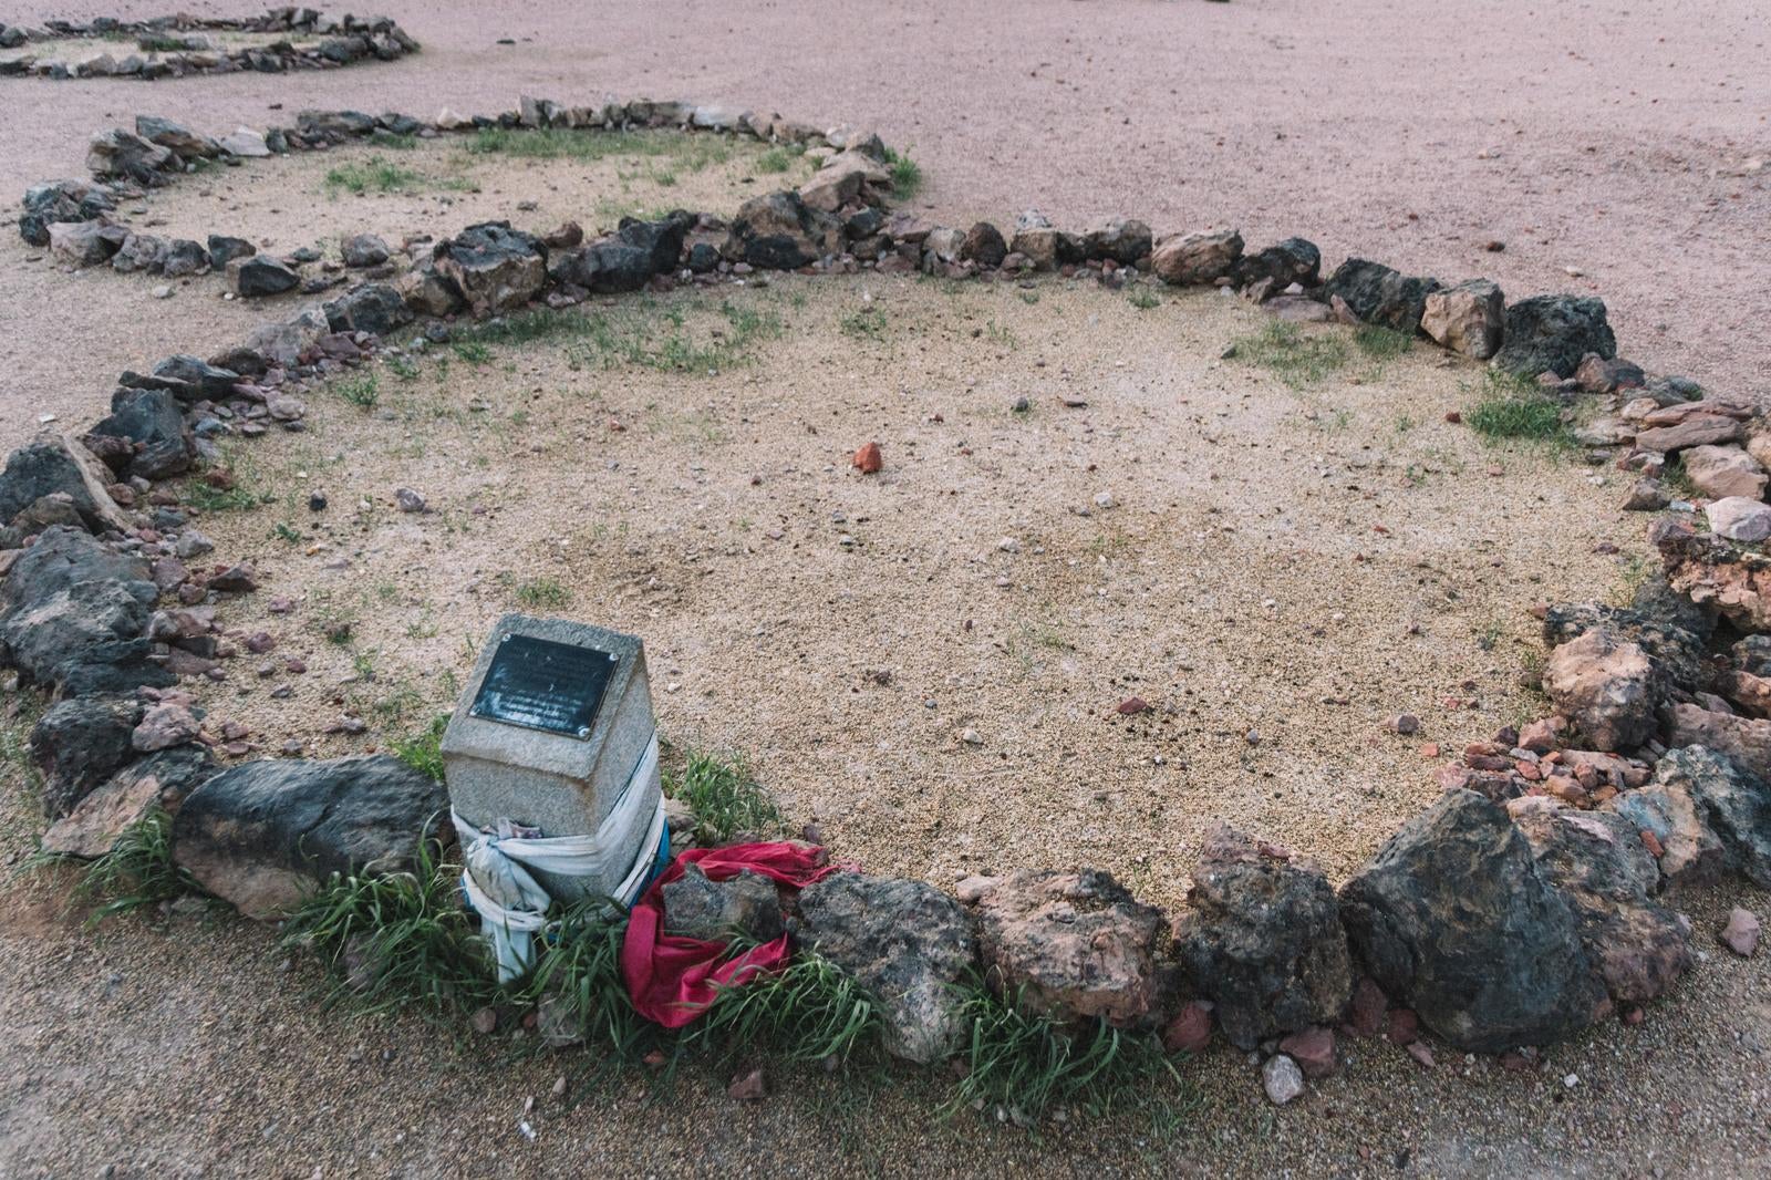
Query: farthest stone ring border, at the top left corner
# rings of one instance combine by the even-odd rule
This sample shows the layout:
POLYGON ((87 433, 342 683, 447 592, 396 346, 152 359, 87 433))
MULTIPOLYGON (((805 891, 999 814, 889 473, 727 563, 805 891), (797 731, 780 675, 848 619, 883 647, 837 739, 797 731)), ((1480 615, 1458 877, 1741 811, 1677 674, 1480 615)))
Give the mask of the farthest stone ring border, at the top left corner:
POLYGON ((16 50, 34 41, 66 41, 131 35, 138 53, 120 58, 99 53, 83 62, 39 62, 34 57, 0 60, 0 78, 184 78, 189 74, 232 74, 244 69, 280 74, 290 69, 336 69, 370 58, 397 62, 418 51, 418 43, 386 16, 331 16, 313 9, 271 9, 264 16, 156 16, 122 21, 101 16, 90 21, 44 21, 41 28, 0 23, 0 50, 16 50), (207 46, 200 34, 296 34, 324 37, 313 48, 296 48, 289 41, 221 50, 207 46))

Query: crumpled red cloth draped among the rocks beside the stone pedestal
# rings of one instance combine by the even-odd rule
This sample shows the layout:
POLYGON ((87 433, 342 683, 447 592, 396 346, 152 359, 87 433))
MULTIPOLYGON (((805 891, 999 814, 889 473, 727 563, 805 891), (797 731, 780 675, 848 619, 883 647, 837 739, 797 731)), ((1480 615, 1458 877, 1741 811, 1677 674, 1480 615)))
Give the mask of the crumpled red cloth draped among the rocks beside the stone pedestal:
POLYGON ((639 1015, 664 1028, 682 1028, 714 1003, 719 989, 777 971, 790 955, 785 934, 731 959, 724 959, 724 943, 664 934, 664 886, 682 877, 687 865, 698 865, 708 881, 728 881, 749 870, 802 889, 841 868, 822 861, 824 849, 788 842, 689 849, 673 859, 634 905, 622 941, 622 978, 639 1015))

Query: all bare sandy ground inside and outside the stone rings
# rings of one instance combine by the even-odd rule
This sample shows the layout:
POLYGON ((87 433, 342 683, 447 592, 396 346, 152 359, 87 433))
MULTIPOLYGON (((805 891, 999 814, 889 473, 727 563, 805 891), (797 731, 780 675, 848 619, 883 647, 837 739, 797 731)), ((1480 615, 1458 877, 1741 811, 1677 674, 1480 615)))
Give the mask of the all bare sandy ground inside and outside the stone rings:
MULTIPOLYGON (((1027 204, 1061 221, 1229 220, 1254 239, 1303 232, 1330 259, 1489 273, 1514 294, 1596 282, 1636 360, 1736 390, 1762 381, 1766 296, 1734 276, 1762 236, 1764 174, 1709 174, 1766 154, 1764 32, 1748 5, 1690 21, 1505 4, 1482 23, 1362 2, 839 4, 816 19, 689 5, 671 35, 646 9, 595 25, 528 11, 496 28, 466 7, 388 7, 425 43, 416 58, 142 87, 14 82, 0 184, 78 172, 74 142, 135 110, 225 131, 246 110, 276 117, 271 103, 434 113, 519 90, 682 90, 877 122, 916 145, 921 200, 953 220, 1006 221, 1027 204), (1489 237, 1507 252, 1481 253, 1489 237)), ((280 234, 312 216, 313 236, 333 236, 340 206, 398 211, 312 184, 273 206, 248 177, 227 174, 241 190, 216 209, 276 207, 280 234)), ((547 200, 545 179, 535 188, 521 198, 547 200)), ((43 413, 96 416, 119 369, 207 351, 260 315, 216 298, 214 280, 159 301, 143 282, 66 276, 30 253, 0 246, 7 445, 43 413)), ((448 698, 487 620, 556 602, 643 631, 666 730, 753 755, 795 819, 871 868, 946 884, 1086 859, 1174 904, 1211 819, 1342 877, 1431 796, 1427 764, 1383 718, 1420 712, 1413 741, 1447 748, 1516 719, 1523 608, 1612 592, 1642 549, 1613 510, 1620 487, 1443 423, 1477 370, 1440 369, 1426 349, 1380 367, 1353 349, 1344 370, 1291 390, 1215 360, 1261 324, 1215 296, 1137 308, 1059 283, 1031 303, 1013 287, 788 278, 584 314, 602 324, 483 358, 432 353, 409 379, 377 367, 368 408, 363 386, 352 402, 335 383, 310 395, 310 434, 241 452, 273 501, 204 528, 255 556, 267 590, 228 622, 271 629, 276 656, 310 672, 259 680, 246 663, 209 693, 216 718, 246 721, 271 751, 381 744, 448 698), (777 330, 739 331, 723 298, 777 330), (678 333, 719 376, 607 363, 678 333), (1011 411, 1017 397, 1031 413, 1011 411), (866 438, 887 455, 871 480, 847 466, 866 438), (398 485, 432 512, 397 514, 398 485), (331 501, 321 517, 312 487, 331 501), (1596 553, 1603 542, 1624 553, 1596 553), (260 613, 285 592, 292 615, 260 613), (340 617, 352 645, 322 636, 340 617), (292 695, 273 700, 285 680, 292 695), (1132 695, 1156 709, 1109 716, 1132 695), (370 730, 328 734, 347 710, 370 730)), ((9 792, 14 863, 28 808, 9 792)), ((1643 1026, 1596 1029, 1535 1074, 1443 1047, 1422 1070, 1353 1045, 1341 1077, 1275 1111, 1257 1072, 1218 1049, 1185 1067, 1197 1095, 1178 1129, 1119 1120, 1041 1137, 935 1122, 940 1084, 912 1074, 786 1075, 760 1106, 689 1077, 648 1102, 630 1075, 581 1079, 588 1054, 512 1060, 503 1038, 324 1012, 312 966, 227 914, 92 935, 55 898, 19 884, 0 918, 5 1178, 1682 1176, 1764 1175, 1771 1157, 1771 960, 1736 960, 1713 937, 1728 904, 1766 911, 1750 889, 1686 898, 1707 962, 1643 1026)))

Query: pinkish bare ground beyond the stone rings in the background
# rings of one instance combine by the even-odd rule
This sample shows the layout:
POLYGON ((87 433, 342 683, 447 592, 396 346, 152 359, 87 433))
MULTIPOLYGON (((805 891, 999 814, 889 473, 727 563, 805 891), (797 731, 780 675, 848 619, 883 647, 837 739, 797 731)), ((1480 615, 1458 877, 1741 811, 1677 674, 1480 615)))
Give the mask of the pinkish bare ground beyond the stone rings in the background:
MULTIPOLYGON (((32 0, 12 18, 117 5, 158 12, 32 0)), ((1036 206, 1071 225, 1233 223, 1256 243, 1303 234, 1330 260, 1491 275, 1512 296, 1596 291, 1636 360, 1766 393, 1771 296, 1743 278, 1771 223, 1771 174, 1739 175, 1771 159, 1771 32, 1755 0, 1707 4, 1702 19, 1624 0, 1498 0, 1481 18, 1385 0, 687 0, 668 28, 643 4, 379 7, 423 53, 142 87, 0 80, 0 197, 80 174, 85 136, 138 110, 225 131, 303 106, 432 115, 521 92, 685 94, 875 124, 926 165, 930 213, 956 221, 1036 206)), ((0 365, 7 395, 32 408, 80 415, 115 370, 182 349, 193 330, 214 338, 214 308, 143 298, 78 347, 41 349, 96 308, 85 285, 18 252, 16 239, 0 250, 0 365)), ((0 443, 21 423, 9 415, 0 443)))

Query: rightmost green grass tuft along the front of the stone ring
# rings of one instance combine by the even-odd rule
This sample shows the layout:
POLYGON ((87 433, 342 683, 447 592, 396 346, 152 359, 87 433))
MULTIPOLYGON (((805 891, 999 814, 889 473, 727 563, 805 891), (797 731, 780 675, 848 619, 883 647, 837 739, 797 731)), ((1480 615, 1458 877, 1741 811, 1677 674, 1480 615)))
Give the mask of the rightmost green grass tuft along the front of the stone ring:
POLYGON ((965 1106, 995 1107, 1024 1127, 1038 1123, 1052 1106, 1089 1116, 1133 1106, 1167 1107, 1172 1114, 1176 1102, 1158 1088, 1179 1084, 1181 1075, 1155 1035, 1105 1021, 1066 1028, 976 982, 965 985, 960 1010, 971 1035, 949 1114, 965 1106))

